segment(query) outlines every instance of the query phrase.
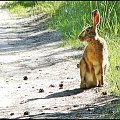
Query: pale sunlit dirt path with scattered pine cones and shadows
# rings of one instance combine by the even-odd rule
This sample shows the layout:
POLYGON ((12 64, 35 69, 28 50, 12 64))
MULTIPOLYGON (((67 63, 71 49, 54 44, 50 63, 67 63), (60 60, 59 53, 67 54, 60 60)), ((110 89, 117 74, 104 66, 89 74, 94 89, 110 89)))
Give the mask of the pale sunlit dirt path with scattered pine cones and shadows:
POLYGON ((119 98, 103 95, 107 88, 79 88, 76 64, 82 51, 61 48, 61 35, 47 29, 47 20, 43 14, 10 19, 0 10, 0 118, 101 118, 113 113, 119 98))

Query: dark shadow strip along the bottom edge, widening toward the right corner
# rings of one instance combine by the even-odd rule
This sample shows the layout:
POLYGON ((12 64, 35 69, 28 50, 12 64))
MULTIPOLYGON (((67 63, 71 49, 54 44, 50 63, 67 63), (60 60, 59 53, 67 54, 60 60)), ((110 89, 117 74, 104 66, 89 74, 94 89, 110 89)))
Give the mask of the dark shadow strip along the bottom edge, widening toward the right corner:
MULTIPOLYGON (((99 98, 97 98, 99 99, 99 98)), ((118 103, 120 103, 120 97, 113 99, 111 101, 104 101, 105 103, 101 103, 100 105, 91 104, 91 105, 83 105, 81 108, 81 104, 78 105, 78 108, 72 109, 69 112, 62 113, 40 113, 36 115, 28 115, 27 117, 30 119, 120 119, 119 112, 117 111, 118 103)), ((18 117, 17 119, 21 119, 24 117, 18 117)))

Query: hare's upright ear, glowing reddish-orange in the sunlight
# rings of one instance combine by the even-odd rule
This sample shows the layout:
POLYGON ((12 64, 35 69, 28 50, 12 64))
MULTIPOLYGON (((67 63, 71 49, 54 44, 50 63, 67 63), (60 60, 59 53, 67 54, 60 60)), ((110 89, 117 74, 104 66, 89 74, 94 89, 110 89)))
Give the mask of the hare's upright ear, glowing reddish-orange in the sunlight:
POLYGON ((99 24, 100 22, 100 14, 99 14, 99 11, 98 10, 94 10, 92 12, 92 17, 93 17, 93 27, 96 28, 97 25, 99 24))

